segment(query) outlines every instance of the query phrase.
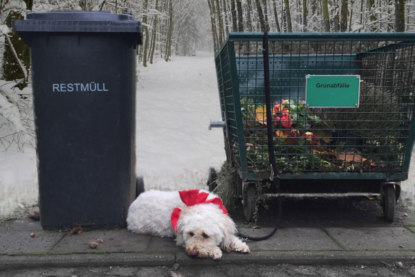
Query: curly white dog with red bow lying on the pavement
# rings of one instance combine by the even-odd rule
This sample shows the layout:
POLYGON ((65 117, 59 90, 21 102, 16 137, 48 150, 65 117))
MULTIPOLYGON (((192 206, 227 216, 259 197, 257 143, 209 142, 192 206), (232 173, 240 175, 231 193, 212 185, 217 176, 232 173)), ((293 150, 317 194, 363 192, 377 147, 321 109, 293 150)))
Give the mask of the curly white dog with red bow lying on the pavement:
POLYGON ((141 193, 129 207, 127 225, 140 235, 176 236, 176 244, 194 257, 219 260, 218 246, 249 253, 248 245, 235 236, 237 228, 221 199, 199 190, 141 193))

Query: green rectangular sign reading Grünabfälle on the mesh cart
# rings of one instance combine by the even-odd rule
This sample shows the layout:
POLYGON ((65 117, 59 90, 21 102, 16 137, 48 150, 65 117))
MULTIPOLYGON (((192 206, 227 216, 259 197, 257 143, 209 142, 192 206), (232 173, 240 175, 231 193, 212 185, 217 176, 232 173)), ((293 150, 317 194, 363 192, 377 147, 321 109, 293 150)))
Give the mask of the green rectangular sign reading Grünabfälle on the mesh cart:
POLYGON ((307 107, 359 107, 360 75, 306 75, 307 107))

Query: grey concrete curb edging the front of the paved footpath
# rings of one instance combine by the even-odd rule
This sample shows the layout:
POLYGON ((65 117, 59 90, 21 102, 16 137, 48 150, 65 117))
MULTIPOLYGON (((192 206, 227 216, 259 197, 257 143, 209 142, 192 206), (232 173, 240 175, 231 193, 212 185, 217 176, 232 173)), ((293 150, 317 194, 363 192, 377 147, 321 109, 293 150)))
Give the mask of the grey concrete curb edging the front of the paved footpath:
POLYGON ((203 265, 380 265, 380 261, 415 262, 415 251, 252 251, 223 253, 221 260, 190 258, 177 253, 75 253, 67 255, 0 256, 0 270, 46 267, 183 267, 203 265))

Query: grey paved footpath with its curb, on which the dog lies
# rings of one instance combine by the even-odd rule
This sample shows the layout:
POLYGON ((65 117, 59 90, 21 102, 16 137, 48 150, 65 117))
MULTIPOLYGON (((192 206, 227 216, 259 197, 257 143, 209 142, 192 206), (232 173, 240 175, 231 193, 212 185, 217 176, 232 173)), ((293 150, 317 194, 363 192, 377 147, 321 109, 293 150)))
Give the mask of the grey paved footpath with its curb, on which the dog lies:
MULTIPOLYGON (((265 235, 270 228, 241 228, 265 235)), ((26 217, 0 224, 0 270, 30 267, 200 265, 380 265, 415 263, 415 225, 348 228, 282 228, 272 238, 247 241, 250 253, 223 253, 219 261, 190 258, 172 238, 109 231, 42 231, 26 217), (33 237, 31 233, 35 233, 33 237), (98 242, 102 240, 102 242, 98 242), (97 242, 91 249, 89 242, 97 242)))

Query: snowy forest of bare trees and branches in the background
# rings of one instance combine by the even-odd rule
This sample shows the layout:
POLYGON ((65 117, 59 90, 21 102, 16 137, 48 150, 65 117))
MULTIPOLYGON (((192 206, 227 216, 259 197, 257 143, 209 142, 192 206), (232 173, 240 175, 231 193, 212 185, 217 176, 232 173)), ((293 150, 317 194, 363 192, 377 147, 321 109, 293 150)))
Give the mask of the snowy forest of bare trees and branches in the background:
POLYGON ((230 32, 412 32, 414 0, 0 0, 0 150, 33 145, 30 53, 12 20, 109 10, 142 21, 139 62, 216 51, 230 32))

